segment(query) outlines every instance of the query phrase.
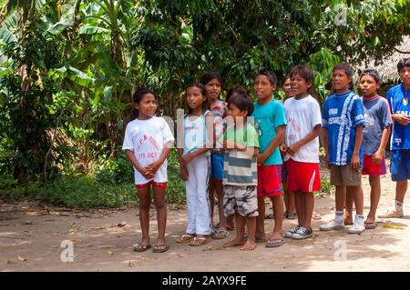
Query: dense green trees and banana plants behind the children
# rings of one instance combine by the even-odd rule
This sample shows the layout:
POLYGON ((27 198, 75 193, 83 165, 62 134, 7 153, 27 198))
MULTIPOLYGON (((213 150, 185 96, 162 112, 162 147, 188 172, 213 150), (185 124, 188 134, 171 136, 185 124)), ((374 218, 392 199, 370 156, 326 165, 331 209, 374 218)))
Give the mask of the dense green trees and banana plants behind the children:
MULTIPOLYGON (((239 84, 252 92, 260 68, 273 70, 281 82, 292 65, 306 64, 323 100, 333 65, 380 61, 410 35, 408 0, 0 5, 6 8, 0 15, 0 173, 13 176, 4 184, 15 186, 14 196, 41 192, 45 200, 76 206, 87 189, 100 191, 90 196, 107 205, 120 203, 122 197, 111 195, 117 186, 123 201, 135 195, 128 186, 132 166, 118 145, 138 85, 157 91, 159 115, 173 117, 183 107, 185 87, 205 71, 219 71, 224 89, 239 84)), ((172 203, 185 200, 178 172, 174 151, 172 203)), ((84 205, 102 205, 87 198, 84 205)))

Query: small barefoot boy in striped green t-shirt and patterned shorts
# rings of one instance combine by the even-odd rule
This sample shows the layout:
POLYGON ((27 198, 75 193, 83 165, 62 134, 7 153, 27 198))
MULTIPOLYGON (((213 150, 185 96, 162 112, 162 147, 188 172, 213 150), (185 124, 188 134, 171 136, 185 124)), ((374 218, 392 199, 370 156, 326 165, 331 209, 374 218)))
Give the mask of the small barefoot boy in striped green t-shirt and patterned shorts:
POLYGON ((226 216, 236 216, 236 237, 223 246, 243 245, 242 251, 256 248, 256 216, 259 215, 256 196, 259 141, 256 130, 247 123, 247 116, 252 110, 250 98, 244 95, 232 98, 228 103, 228 129, 222 136, 223 148, 226 150, 222 180, 223 211, 226 216), (247 240, 245 224, 248 228, 247 240))

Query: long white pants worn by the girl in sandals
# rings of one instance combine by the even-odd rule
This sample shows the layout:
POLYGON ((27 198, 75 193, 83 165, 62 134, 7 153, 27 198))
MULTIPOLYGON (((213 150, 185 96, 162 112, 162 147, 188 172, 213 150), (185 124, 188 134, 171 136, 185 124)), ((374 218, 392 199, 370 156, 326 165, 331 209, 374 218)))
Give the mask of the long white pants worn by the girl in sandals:
POLYGON ((187 165, 188 226, 187 234, 210 235, 210 198, 208 184, 210 177, 210 156, 200 155, 187 165))

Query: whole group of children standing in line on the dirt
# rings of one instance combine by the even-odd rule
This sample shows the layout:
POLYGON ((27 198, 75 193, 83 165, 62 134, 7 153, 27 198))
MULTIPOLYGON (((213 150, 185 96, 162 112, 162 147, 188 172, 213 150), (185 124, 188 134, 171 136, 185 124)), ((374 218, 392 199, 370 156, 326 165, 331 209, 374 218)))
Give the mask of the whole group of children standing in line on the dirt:
MULTIPOLYGON (((224 247, 241 245, 241 250, 251 251, 257 243, 265 243, 266 247, 283 245, 281 183, 288 193, 285 216, 294 215, 294 205, 298 218, 298 225, 286 231, 284 237, 311 237, 312 219, 317 215, 313 193, 321 188, 320 135, 331 183, 336 187, 335 218, 321 225, 320 230, 341 230, 352 225, 348 233, 358 234, 374 228, 381 195, 380 175, 386 173, 384 148, 392 125, 391 173, 397 182, 396 198, 394 207, 379 216, 402 217, 410 177, 410 58, 402 59, 397 68, 402 83, 390 89, 384 99, 377 95, 380 77, 374 69, 360 75, 361 97, 354 93, 353 69, 346 64, 334 66, 333 92, 324 101, 322 111, 314 97, 313 72, 305 65, 292 67, 289 77, 285 77, 283 104, 272 98, 277 78, 267 70, 255 75, 256 102, 241 86, 232 87, 226 102, 221 101, 223 82, 218 73, 202 75, 200 82, 189 85, 183 148, 178 148, 180 177, 186 182, 188 225, 177 243, 205 245, 211 238, 226 238, 235 225, 236 236, 224 247), (361 175, 369 175, 371 185, 371 208, 365 221, 361 175), (214 227, 215 192, 220 223, 214 227), (272 202, 274 219, 268 239, 264 229, 266 199, 272 202)), ((142 240, 134 247, 137 252, 151 247, 150 185, 159 225, 153 252, 169 249, 164 195, 167 156, 174 138, 169 125, 155 116, 156 109, 155 93, 138 90, 123 145, 135 168, 139 196, 142 240)))

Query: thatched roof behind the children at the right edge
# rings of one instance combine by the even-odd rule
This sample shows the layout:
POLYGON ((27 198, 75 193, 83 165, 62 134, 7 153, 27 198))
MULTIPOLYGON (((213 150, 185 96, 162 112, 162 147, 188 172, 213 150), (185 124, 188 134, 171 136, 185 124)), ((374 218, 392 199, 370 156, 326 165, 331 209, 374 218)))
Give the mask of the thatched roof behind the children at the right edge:
POLYGON ((367 65, 364 63, 360 65, 360 69, 364 70, 364 68, 374 68, 379 72, 382 83, 396 82, 399 79, 399 75, 397 73, 397 63, 402 58, 410 57, 409 54, 403 54, 399 51, 410 53, 409 36, 405 36, 401 45, 395 47, 395 52, 393 55, 384 57, 382 64, 374 65, 374 61, 370 61, 367 65))

